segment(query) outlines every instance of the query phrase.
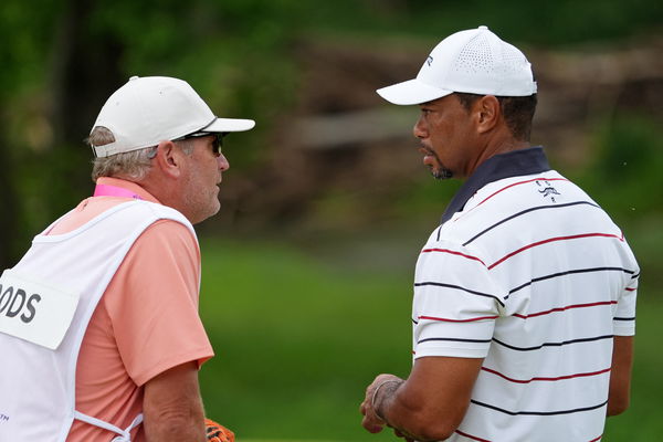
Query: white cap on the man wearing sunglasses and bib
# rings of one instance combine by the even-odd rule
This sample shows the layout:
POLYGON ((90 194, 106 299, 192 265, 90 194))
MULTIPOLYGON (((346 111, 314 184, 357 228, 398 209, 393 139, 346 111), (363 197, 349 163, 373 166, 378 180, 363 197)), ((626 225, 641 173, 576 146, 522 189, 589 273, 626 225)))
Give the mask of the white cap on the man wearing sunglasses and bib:
POLYGON ((97 157, 138 150, 193 133, 252 129, 252 119, 219 118, 189 83, 167 76, 133 76, 106 101, 94 127, 103 126, 115 141, 93 146, 97 157))

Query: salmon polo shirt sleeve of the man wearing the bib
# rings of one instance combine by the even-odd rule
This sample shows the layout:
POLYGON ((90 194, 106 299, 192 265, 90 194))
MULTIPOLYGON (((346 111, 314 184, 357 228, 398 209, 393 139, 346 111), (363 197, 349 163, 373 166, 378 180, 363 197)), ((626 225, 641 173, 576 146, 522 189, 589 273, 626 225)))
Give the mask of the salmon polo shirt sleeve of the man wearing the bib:
POLYGON ((183 224, 161 220, 136 240, 108 290, 106 308, 127 372, 138 386, 213 356, 198 313, 200 251, 183 224))

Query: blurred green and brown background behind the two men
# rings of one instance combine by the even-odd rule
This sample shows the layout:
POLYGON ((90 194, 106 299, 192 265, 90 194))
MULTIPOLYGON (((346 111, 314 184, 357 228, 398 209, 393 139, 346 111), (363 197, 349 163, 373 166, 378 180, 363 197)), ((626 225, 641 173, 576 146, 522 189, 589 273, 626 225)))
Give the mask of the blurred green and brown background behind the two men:
POLYGON ((639 259, 632 407, 604 440, 660 440, 660 1, 3 0, 0 264, 92 192, 82 140, 106 97, 131 75, 182 77, 257 122, 227 138, 222 211, 198 229, 208 414, 240 441, 394 440, 358 408, 375 375, 409 372, 414 261, 459 183, 430 179, 417 109, 375 90, 480 24, 533 62, 533 143, 639 259))

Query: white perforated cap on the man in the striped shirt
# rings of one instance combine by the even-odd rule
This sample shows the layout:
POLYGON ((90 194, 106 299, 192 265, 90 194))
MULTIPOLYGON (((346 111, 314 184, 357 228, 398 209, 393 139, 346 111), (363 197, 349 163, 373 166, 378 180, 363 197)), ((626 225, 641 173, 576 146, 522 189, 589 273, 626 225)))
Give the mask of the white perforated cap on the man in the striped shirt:
POLYGON ((517 48, 486 27, 460 31, 442 40, 417 78, 377 91, 393 104, 421 104, 454 92, 496 96, 536 94, 532 65, 517 48))

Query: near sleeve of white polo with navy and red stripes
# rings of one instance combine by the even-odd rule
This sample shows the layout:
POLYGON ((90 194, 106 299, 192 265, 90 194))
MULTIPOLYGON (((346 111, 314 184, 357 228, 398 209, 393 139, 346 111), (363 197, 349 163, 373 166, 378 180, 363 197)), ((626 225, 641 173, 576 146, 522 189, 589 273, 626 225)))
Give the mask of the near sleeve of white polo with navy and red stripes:
POLYGON ((414 358, 485 357, 501 305, 503 294, 474 252, 448 242, 424 248, 414 276, 414 358))

